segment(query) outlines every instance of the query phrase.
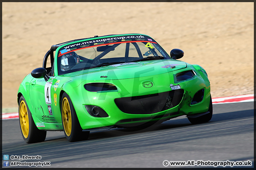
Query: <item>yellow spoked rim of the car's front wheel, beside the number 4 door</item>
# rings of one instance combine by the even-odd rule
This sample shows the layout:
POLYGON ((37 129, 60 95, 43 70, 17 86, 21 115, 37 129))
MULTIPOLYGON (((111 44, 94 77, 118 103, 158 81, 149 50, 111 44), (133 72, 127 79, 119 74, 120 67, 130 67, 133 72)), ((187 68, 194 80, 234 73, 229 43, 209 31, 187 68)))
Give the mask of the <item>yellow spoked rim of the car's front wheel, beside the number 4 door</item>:
POLYGON ((66 135, 70 136, 72 128, 72 118, 68 98, 66 97, 64 97, 62 100, 62 121, 66 135))

